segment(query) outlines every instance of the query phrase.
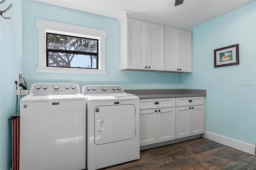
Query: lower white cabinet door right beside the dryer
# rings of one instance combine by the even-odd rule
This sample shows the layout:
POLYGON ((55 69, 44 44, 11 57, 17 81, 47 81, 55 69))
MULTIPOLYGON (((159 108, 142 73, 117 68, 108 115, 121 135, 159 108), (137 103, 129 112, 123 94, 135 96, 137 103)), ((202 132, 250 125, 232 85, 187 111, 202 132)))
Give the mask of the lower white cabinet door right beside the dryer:
POLYGON ((140 146, 157 142, 156 109, 140 110, 140 146))

